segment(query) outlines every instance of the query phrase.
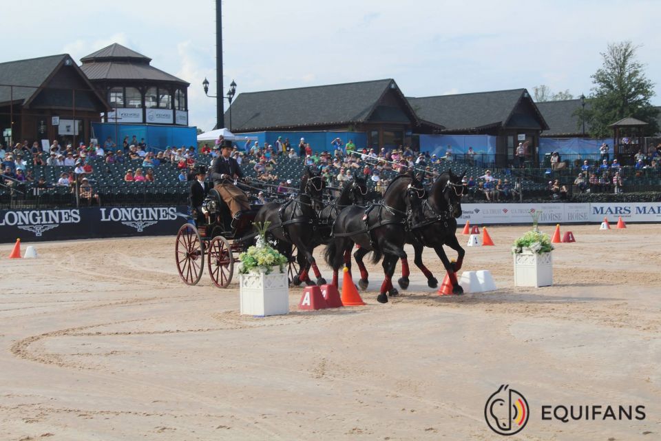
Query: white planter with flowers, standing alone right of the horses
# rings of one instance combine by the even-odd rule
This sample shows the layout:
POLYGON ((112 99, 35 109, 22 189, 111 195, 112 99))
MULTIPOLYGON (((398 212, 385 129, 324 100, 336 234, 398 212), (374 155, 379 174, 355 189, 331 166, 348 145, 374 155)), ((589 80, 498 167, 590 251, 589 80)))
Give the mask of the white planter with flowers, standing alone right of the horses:
POLYGON ((530 210, 533 229, 514 241, 514 285, 545 287, 553 285, 554 249, 548 234, 539 231, 537 223, 541 211, 530 210))

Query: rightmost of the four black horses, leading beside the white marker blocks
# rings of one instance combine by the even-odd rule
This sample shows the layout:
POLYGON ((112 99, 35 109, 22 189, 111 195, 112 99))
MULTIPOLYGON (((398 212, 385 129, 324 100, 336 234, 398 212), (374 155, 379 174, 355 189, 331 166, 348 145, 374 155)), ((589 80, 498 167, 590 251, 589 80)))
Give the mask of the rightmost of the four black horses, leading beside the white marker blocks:
MULTIPOLYGON (((461 269, 465 254, 457 240, 457 218, 461 217, 461 196, 465 190, 461 181, 463 176, 465 176, 465 172, 461 176, 457 176, 452 173, 452 170, 448 170, 437 178, 427 198, 423 201, 419 198, 412 198, 411 225, 407 239, 407 243, 411 243, 415 250, 415 263, 418 267, 422 264, 423 247, 434 249, 441 258, 443 267, 448 271, 453 294, 463 293, 463 289, 457 283, 457 271, 461 269), (448 245, 457 252, 457 262, 450 263, 443 250, 443 245, 448 245)), ((408 287, 408 265, 406 273, 404 269, 402 265, 402 278, 399 279, 399 285, 408 287)), ((425 272, 424 269, 423 272, 425 272)), ((431 273, 429 274, 431 275, 431 273)), ((425 275, 428 276, 427 273, 425 275)), ((432 282, 437 283, 433 276, 432 279, 430 280, 430 276, 428 276, 430 287, 432 282)))

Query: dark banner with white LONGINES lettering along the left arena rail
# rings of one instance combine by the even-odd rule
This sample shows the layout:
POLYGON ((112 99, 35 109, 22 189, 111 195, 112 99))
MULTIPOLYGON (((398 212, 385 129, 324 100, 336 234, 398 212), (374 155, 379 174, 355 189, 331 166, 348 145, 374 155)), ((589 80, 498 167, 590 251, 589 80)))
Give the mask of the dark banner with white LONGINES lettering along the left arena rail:
POLYGON ((0 243, 176 234, 187 207, 0 210, 0 243))

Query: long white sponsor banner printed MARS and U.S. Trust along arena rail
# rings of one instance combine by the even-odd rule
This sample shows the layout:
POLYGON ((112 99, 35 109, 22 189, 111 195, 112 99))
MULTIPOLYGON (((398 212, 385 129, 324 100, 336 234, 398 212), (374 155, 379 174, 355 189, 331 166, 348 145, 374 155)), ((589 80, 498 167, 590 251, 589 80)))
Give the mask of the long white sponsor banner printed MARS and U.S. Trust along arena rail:
POLYGON ((501 203, 461 204, 461 220, 474 224, 532 223, 532 212, 541 211, 539 223, 661 222, 661 202, 649 203, 501 203))

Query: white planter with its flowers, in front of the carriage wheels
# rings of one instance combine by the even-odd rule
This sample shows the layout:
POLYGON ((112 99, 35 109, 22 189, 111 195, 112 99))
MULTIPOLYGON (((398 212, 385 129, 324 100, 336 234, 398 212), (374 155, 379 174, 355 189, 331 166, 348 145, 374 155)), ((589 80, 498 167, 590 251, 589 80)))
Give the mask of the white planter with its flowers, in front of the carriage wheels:
POLYGON ((266 241, 270 224, 255 224, 256 244, 239 255, 241 314, 263 317, 289 312, 289 280, 284 271, 287 258, 266 241), (277 267, 280 271, 273 271, 277 267))

